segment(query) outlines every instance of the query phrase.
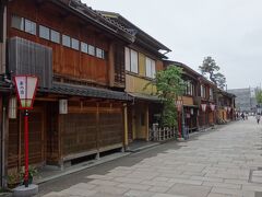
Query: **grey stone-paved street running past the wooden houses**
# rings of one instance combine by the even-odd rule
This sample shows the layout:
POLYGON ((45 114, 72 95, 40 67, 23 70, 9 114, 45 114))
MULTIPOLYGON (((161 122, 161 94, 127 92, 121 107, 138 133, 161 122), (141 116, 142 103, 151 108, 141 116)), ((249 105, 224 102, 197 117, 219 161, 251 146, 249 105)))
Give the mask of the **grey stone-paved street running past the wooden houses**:
POLYGON ((71 175, 83 177, 72 178, 73 184, 66 184, 59 190, 43 186, 40 194, 45 197, 259 197, 262 194, 262 125, 258 126, 252 117, 202 132, 190 141, 172 141, 148 151, 155 154, 130 165, 121 164, 121 160, 130 159, 120 159, 105 173, 99 173, 103 166, 96 166, 87 175, 85 172, 71 175))

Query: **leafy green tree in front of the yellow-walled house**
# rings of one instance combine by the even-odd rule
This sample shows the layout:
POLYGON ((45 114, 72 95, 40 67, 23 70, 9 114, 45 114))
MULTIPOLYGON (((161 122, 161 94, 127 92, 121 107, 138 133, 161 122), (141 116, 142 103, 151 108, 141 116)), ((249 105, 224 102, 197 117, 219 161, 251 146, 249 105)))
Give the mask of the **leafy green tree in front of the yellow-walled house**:
POLYGON ((176 127, 177 126, 177 107, 176 101, 179 95, 182 95, 184 82, 181 78, 182 69, 174 65, 166 70, 156 73, 154 83, 156 85, 156 95, 162 99, 164 109, 160 117, 160 126, 176 127))

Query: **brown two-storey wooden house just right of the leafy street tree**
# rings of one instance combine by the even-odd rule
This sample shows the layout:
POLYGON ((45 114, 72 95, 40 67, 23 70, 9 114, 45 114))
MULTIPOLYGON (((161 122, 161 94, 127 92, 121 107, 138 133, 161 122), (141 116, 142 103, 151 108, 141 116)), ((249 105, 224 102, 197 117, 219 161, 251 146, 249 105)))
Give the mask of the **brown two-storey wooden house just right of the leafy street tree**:
MULTIPOLYGON (((179 114, 180 129, 189 132, 205 129, 216 123, 216 85, 187 65, 177 61, 165 61, 165 67, 182 68, 186 83, 184 94, 178 97, 183 108, 179 114)), ((180 130, 180 132, 182 132, 180 130)))

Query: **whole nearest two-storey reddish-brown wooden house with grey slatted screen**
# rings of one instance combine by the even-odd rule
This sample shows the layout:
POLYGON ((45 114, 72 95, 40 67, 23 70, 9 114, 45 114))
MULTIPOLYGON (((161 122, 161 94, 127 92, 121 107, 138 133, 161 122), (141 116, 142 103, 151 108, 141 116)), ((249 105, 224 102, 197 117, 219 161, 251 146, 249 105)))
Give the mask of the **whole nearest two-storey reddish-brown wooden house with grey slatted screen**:
MULTIPOLYGON (((12 0, 7 16, 8 72, 39 77, 29 112, 29 163, 62 167, 123 148, 131 101, 124 46, 134 32, 78 0, 12 0)), ((20 111, 9 120, 8 148, 9 169, 21 167, 20 111)))

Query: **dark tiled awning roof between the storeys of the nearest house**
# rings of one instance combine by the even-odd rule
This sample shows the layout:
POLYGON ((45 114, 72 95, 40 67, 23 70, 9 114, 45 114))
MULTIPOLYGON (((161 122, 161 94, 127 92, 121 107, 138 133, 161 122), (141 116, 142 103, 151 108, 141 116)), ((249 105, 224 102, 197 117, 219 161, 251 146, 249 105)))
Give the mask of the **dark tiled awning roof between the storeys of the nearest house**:
POLYGON ((131 101, 131 97, 124 92, 91 88, 91 86, 71 85, 71 84, 64 84, 64 83, 61 83, 61 84, 55 83, 51 89, 40 89, 39 92, 63 94, 63 95, 75 95, 75 96, 84 96, 84 97, 131 101))

